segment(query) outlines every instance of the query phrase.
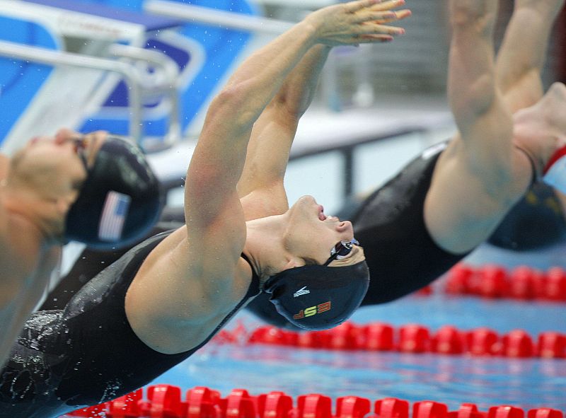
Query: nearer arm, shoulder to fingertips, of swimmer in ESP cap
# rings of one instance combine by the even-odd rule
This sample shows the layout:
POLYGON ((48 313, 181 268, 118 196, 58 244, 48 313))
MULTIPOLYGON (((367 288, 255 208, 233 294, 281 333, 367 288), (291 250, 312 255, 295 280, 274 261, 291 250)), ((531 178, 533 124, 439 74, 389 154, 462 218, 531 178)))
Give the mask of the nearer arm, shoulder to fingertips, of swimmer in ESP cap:
POLYGON ((395 18, 383 4, 398 3, 358 0, 311 13, 248 57, 212 100, 185 182, 187 226, 151 251, 126 298, 129 322, 151 347, 193 347, 246 294, 251 271, 240 257, 246 219, 237 183, 253 124, 315 45, 379 42, 402 33, 376 23, 395 18))

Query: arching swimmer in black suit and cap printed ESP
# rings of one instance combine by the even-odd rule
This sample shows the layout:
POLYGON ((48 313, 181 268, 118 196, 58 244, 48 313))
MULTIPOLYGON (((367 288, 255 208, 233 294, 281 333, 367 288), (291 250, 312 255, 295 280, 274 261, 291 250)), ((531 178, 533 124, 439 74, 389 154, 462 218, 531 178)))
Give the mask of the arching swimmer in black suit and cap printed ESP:
POLYGON ((388 23, 410 14, 392 11, 403 4, 321 8, 243 62, 207 111, 186 225, 129 250, 63 310, 28 319, 0 371, 0 417, 52 417, 125 395, 187 359, 260 290, 299 327, 350 316, 369 281, 352 223, 313 197, 288 209, 283 175, 330 48, 393 40, 403 29, 388 23))

